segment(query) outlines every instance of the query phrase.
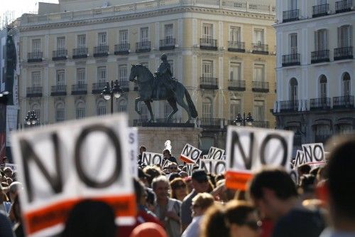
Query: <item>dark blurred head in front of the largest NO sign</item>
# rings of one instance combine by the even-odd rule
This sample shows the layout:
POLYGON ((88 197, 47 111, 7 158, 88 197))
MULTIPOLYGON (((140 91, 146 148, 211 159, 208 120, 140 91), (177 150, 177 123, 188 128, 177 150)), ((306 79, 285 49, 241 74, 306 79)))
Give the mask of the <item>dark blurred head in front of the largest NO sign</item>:
POLYGON ((112 237, 116 235, 115 214, 102 201, 84 200, 70 211, 62 237, 112 237))

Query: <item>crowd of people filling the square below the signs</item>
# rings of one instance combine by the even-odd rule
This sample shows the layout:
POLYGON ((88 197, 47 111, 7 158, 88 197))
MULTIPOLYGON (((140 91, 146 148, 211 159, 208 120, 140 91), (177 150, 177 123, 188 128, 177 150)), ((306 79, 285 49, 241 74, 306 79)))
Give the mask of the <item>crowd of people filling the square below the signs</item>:
MULTIPOLYGON (((143 164, 133 179, 137 212, 131 226, 117 226, 108 204, 86 200, 75 206, 63 237, 348 237, 355 236, 355 137, 339 137, 327 164, 288 172, 263 167, 246 190, 228 189, 224 174, 187 166, 164 150, 166 167, 143 164)), ((21 184, 2 167, 0 236, 24 236, 17 193, 21 184)), ((24 226, 26 227, 26 226, 24 226)))

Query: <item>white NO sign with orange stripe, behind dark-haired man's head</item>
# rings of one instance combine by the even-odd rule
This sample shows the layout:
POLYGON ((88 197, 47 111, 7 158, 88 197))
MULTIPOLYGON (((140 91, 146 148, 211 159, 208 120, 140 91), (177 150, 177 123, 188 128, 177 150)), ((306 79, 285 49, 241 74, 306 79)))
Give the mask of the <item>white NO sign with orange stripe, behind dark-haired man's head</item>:
POLYGON ((226 186, 246 189, 252 172, 263 165, 290 170, 293 132, 228 126, 226 139, 226 186))

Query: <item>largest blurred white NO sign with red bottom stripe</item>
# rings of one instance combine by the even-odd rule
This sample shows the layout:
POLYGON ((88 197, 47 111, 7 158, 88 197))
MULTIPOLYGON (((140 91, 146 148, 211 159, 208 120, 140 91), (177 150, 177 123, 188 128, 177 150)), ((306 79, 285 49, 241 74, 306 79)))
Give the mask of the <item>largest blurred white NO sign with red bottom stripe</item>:
POLYGON ((83 199, 107 202, 120 223, 134 221, 136 197, 128 157, 126 115, 115 115, 15 132, 22 214, 28 236, 62 231, 83 199))

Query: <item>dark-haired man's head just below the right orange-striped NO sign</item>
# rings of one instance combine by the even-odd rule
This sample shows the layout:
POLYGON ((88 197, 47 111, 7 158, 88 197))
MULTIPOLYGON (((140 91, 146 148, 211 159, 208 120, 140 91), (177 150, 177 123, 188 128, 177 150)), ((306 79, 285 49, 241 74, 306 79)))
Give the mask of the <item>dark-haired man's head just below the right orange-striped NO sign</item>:
POLYGON ((262 169, 249 184, 249 195, 263 218, 277 219, 285 213, 285 205, 297 199, 297 189, 283 169, 262 169))

